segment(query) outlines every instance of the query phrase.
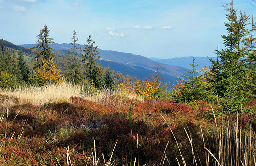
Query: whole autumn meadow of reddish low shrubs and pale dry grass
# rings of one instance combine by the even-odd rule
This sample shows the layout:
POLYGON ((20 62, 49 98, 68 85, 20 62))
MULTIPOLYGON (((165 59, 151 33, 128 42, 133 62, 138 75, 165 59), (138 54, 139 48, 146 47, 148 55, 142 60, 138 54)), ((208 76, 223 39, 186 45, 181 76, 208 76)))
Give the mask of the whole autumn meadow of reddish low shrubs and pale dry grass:
POLYGON ((70 83, 0 90, 0 165, 256 166, 254 107, 218 109, 70 83))

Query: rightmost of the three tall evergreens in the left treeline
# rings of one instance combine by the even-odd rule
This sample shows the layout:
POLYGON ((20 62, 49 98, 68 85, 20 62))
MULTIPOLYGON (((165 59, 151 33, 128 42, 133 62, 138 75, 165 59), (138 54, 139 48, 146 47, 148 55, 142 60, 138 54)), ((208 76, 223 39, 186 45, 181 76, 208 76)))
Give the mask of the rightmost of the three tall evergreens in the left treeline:
POLYGON ((96 59, 99 59, 100 56, 97 48, 98 46, 94 47, 93 44, 95 41, 92 40, 91 35, 87 39, 87 44, 84 46, 84 53, 82 55, 82 61, 85 62, 85 75, 86 78, 96 85, 101 82, 102 79, 102 67, 101 64, 98 64, 96 59), (96 75, 97 74, 97 75, 96 75))

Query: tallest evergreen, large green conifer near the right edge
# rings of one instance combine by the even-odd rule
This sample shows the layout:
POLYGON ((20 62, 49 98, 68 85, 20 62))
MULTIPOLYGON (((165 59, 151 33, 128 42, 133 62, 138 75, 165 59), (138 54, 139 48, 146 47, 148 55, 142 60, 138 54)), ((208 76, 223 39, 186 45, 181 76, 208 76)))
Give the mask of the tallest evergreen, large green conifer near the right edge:
POLYGON ((250 63, 253 62, 253 58, 246 53, 249 47, 243 47, 243 41, 248 35, 245 26, 249 16, 240 11, 240 18, 238 19, 236 10, 233 8, 233 2, 227 3, 225 8, 229 12, 226 14, 228 22, 225 23, 228 34, 222 35, 225 49, 215 51, 219 59, 218 61, 211 60, 211 63, 214 66, 213 69, 217 69, 218 72, 212 71, 215 79, 209 79, 209 81, 221 98, 223 108, 226 111, 237 112, 241 110, 240 106, 241 102, 245 100, 244 97, 252 94, 251 90, 246 89, 256 89, 252 79, 248 79, 246 76, 252 74, 251 69, 254 67, 250 66, 250 63), (248 64, 250 65, 248 66, 248 64))

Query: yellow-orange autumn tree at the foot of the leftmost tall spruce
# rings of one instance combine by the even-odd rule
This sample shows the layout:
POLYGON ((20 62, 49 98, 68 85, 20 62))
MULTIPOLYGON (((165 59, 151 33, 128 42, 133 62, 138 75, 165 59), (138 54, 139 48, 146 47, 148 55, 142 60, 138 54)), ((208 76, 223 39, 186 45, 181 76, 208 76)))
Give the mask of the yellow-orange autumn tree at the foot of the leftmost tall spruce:
POLYGON ((55 84, 64 80, 64 75, 61 74, 61 70, 58 69, 54 63, 53 58, 49 60, 42 60, 42 66, 37 70, 33 71, 30 76, 30 80, 39 86, 45 84, 55 84))

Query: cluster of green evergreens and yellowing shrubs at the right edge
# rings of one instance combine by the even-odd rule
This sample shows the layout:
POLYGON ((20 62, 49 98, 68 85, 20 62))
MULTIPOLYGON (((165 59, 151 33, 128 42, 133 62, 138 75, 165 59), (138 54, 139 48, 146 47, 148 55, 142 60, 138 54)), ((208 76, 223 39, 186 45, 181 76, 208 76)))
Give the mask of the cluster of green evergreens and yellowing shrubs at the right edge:
POLYGON ((199 74, 193 60, 191 76, 173 83, 176 102, 215 101, 229 112, 252 111, 244 108, 246 100, 256 97, 256 23, 246 13, 238 13, 233 2, 225 6, 227 35, 222 35, 225 49, 215 50, 217 59, 199 74), (246 28, 248 27, 248 28, 246 28))

